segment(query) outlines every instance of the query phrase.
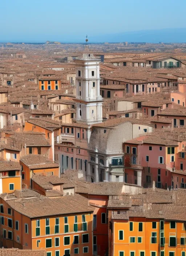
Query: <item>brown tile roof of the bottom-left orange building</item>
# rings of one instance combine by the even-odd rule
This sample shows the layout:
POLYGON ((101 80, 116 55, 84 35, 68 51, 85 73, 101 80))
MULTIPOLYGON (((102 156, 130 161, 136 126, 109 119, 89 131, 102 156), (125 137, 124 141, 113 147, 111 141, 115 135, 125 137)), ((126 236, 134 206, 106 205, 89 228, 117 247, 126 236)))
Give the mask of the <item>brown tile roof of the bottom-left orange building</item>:
POLYGON ((6 202, 15 211, 29 218, 94 211, 94 208, 88 205, 88 199, 80 195, 54 198, 43 196, 27 200, 7 200, 6 202))

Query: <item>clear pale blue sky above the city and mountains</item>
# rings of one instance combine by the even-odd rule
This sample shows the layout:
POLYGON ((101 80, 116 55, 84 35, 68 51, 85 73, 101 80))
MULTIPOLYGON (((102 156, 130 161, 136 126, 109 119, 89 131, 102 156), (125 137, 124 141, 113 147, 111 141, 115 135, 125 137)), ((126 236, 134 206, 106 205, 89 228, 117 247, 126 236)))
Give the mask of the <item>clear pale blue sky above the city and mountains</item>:
POLYGON ((183 28, 185 9, 186 0, 1 0, 0 41, 84 41, 86 34, 93 40, 183 28))

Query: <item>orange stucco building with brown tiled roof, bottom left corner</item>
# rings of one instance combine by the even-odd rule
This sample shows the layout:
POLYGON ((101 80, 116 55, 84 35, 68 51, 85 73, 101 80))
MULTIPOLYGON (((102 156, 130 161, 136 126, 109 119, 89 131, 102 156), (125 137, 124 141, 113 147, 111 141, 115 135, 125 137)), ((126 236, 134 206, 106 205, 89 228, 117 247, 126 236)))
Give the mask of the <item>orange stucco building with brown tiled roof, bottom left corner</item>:
POLYGON ((94 208, 84 197, 49 198, 23 189, 12 199, 0 198, 4 247, 45 249, 47 256, 82 253, 92 256, 94 208))

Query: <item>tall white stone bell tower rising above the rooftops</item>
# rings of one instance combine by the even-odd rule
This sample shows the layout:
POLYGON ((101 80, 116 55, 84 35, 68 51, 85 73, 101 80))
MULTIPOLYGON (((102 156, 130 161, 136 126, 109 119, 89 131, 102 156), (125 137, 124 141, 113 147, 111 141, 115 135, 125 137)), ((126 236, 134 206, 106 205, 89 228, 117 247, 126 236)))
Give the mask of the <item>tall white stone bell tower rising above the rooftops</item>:
POLYGON ((100 95, 100 59, 85 52, 76 62, 76 120, 86 124, 102 122, 102 102, 100 95))

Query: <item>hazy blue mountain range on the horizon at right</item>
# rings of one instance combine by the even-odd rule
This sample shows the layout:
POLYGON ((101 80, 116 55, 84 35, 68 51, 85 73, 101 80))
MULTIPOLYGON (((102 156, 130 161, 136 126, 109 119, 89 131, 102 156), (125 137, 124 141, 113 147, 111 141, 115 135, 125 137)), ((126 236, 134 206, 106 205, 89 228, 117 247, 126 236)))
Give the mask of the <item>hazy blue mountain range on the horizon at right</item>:
POLYGON ((186 43, 186 28, 165 28, 89 36, 90 42, 186 43))

